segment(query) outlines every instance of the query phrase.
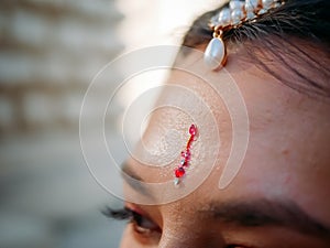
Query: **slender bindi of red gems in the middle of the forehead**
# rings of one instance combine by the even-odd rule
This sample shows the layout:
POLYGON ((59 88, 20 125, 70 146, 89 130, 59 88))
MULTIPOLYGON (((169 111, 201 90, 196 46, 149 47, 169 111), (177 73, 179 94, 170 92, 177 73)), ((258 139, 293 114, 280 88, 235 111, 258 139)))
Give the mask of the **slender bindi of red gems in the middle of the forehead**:
POLYGON ((196 125, 193 123, 190 126, 189 134, 190 134, 190 138, 188 139, 186 149, 184 151, 182 151, 180 163, 174 171, 174 175, 175 175, 174 184, 175 185, 178 185, 180 183, 180 181, 183 180, 183 177, 186 174, 187 168, 189 166, 190 159, 191 159, 191 152, 190 152, 191 143, 193 143, 193 141, 196 140, 196 138, 198 136, 198 130, 197 130, 196 125))

